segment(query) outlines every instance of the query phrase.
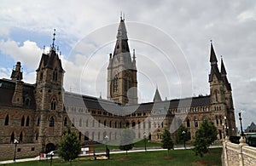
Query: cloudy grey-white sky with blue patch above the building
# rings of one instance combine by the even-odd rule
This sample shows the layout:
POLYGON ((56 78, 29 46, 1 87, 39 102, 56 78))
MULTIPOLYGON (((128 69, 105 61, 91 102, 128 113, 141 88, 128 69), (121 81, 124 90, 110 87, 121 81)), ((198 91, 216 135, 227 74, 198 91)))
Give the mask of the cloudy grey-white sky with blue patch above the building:
MULTIPOLYGON (((139 101, 209 94, 210 40, 224 58, 243 124, 255 121, 256 2, 251 1, 12 1, 0 5, 0 77, 17 60, 24 81, 49 51, 53 29, 66 70, 67 91, 106 98, 108 54, 113 52, 120 11, 130 49, 136 49, 139 101), (44 45, 46 47, 43 50, 44 45)), ((238 121, 236 116, 236 122, 238 121)))

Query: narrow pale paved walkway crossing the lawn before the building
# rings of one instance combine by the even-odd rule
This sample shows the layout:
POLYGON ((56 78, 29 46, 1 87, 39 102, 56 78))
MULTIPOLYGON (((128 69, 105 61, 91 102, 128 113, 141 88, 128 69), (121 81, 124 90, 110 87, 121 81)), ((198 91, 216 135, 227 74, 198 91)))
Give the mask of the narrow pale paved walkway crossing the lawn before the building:
MULTIPOLYGON (((217 148, 217 147, 222 147, 222 146, 210 146, 210 148, 217 148)), ((186 149, 192 149, 193 146, 187 146, 186 149)), ((184 149, 184 147, 174 147, 174 150, 181 150, 184 149)), ((166 149, 162 149, 162 148, 147 148, 147 152, 153 152, 153 151, 166 151, 166 149)), ((145 149, 142 148, 137 148, 137 149, 132 149, 129 152, 145 152, 145 149)), ((125 153, 125 151, 111 151, 110 154, 116 154, 116 153, 125 153)), ((102 154, 106 154, 105 152, 96 152, 96 155, 102 155, 102 154)), ((92 156, 92 153, 90 154, 85 154, 85 155, 80 155, 81 157, 83 156, 92 156)), ((58 157, 53 157, 53 158, 58 158, 58 157)), ((23 158, 23 159, 16 159, 16 161, 14 162, 14 160, 7 160, 7 161, 0 161, 0 164, 6 164, 6 163, 19 163, 19 162, 29 162, 29 161, 39 161, 39 160, 49 160, 50 157, 32 157, 32 158, 23 158)))

